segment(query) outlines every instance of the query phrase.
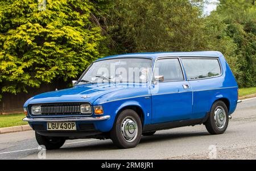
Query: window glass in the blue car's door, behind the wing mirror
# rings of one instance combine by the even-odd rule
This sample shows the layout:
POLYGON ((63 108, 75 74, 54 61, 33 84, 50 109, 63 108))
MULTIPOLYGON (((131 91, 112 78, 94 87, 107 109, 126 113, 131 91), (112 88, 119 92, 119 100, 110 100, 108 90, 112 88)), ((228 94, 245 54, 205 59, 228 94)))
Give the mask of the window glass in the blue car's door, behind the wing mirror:
POLYGON ((155 63, 154 76, 163 76, 164 81, 184 80, 179 59, 159 59, 155 63))

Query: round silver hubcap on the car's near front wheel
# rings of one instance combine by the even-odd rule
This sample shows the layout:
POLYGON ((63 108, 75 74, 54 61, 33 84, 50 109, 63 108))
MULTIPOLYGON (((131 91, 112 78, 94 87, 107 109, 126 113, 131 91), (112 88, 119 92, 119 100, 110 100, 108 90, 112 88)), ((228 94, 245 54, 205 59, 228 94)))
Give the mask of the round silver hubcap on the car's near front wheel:
POLYGON ((126 141, 133 141, 138 135, 138 127, 135 119, 131 116, 127 116, 123 119, 121 131, 126 141))

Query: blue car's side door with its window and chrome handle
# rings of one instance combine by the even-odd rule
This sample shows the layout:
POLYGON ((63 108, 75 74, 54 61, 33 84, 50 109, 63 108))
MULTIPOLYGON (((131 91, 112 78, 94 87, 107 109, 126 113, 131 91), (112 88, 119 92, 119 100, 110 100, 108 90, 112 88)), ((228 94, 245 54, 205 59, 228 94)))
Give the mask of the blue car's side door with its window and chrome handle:
POLYGON ((189 119, 192 113, 192 89, 185 81, 178 57, 164 57, 155 61, 150 85, 152 98, 151 123, 189 119), (163 81, 156 78, 163 76, 163 81))

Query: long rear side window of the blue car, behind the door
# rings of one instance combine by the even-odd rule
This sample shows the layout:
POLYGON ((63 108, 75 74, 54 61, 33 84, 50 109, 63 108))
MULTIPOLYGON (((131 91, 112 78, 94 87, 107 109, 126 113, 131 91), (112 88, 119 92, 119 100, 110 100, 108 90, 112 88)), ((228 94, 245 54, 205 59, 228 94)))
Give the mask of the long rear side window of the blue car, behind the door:
POLYGON ((218 59, 182 59, 188 80, 215 77, 221 74, 218 59))

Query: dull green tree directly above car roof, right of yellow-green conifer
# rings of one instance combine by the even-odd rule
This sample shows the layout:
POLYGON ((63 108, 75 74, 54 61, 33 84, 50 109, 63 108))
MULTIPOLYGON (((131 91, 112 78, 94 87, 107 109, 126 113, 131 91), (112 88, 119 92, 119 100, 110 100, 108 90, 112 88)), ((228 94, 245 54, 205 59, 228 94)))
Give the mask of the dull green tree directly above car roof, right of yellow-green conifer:
POLYGON ((117 53, 204 49, 203 2, 114 0, 107 16, 109 48, 117 53))

